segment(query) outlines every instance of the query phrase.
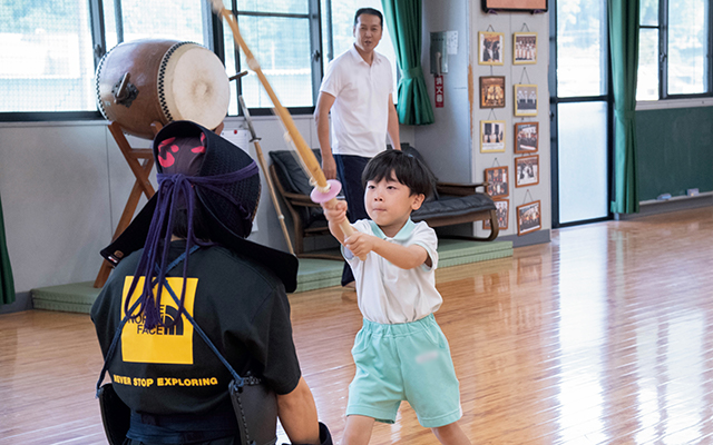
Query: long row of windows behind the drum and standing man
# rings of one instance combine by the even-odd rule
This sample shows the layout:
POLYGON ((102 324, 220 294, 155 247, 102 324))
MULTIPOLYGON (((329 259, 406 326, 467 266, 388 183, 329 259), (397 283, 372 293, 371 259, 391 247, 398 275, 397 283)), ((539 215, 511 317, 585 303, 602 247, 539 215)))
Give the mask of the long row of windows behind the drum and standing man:
MULTIPOLYGON (((223 1, 236 14, 241 34, 282 105, 296 112, 314 107, 328 48, 334 57, 352 43, 356 9, 381 10, 380 0, 223 1)), ((124 41, 193 41, 214 50, 228 76, 247 69, 229 27, 212 14, 208 1, 0 0, 0 120, 67 111, 96 117, 97 62, 124 41)), ((378 50, 392 62, 395 91, 395 56, 385 29, 378 50)), ((250 108, 272 108, 254 73, 231 82, 228 115, 240 111, 238 93, 250 108)))

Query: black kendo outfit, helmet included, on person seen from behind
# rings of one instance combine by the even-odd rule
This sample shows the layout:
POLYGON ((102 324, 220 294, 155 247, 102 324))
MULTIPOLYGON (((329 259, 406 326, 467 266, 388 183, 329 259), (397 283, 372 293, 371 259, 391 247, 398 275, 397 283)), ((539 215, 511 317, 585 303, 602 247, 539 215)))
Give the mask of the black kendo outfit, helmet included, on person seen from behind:
MULTIPOLYGON (((126 322, 106 364, 114 390, 130 409, 125 444, 241 444, 227 392, 233 376, 178 313, 193 316, 237 374, 262 379, 275 394, 289 394, 301 377, 286 297, 296 286, 296 258, 244 239, 257 206, 260 179, 254 161, 240 148, 196 123, 179 121, 157 135, 154 155, 159 181, 173 182, 162 182, 158 198, 102 250, 117 267, 91 308, 106 359, 126 313, 138 313, 130 306, 141 296, 144 283, 138 279, 133 289, 135 276, 148 275, 158 283, 164 270, 164 283, 178 297, 172 298, 165 288, 158 305, 144 301, 146 309, 126 322), (182 151, 192 147, 193 155, 182 151), (185 190, 195 192, 196 198, 191 198, 195 202, 185 194, 174 192, 173 201, 166 199, 182 181, 188 184, 176 172, 209 178, 235 170, 244 171, 245 178, 203 188, 199 181, 191 182, 185 190), (168 238, 152 230, 170 228, 166 210, 172 206, 201 207, 211 243, 188 236, 163 250, 168 238), (155 314, 149 314, 152 307, 157 308, 155 314), (156 326, 147 322, 152 315, 159 320, 156 326)), ((158 298, 155 290, 149 294, 158 298)), ((322 424, 320 433, 323 443, 331 443, 322 424)))

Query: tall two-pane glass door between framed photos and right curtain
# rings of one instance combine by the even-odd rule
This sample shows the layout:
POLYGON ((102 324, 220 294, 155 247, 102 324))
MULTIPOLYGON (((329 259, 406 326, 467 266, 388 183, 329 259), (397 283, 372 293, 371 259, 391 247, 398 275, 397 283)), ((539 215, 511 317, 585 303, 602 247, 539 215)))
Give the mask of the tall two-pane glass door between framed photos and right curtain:
POLYGON ((557 0, 550 10, 553 227, 608 218, 606 0, 557 0))

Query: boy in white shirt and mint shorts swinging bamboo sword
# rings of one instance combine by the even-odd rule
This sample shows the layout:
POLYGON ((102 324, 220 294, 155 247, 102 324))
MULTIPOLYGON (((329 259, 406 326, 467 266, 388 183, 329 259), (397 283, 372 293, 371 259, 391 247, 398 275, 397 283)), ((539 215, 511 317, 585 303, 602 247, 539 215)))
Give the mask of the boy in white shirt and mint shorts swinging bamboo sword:
POLYGON ((348 239, 339 227, 346 202, 324 208, 354 273, 364 316, 352 349, 356 374, 342 443, 369 443, 374 421, 393 423, 401 400, 408 400, 442 444, 470 444, 457 423, 462 412, 448 340, 433 318, 442 303, 434 286, 438 239, 426 222, 410 218, 434 178, 414 157, 387 150, 369 161, 362 182, 371 220, 354 222, 359 231, 348 239))

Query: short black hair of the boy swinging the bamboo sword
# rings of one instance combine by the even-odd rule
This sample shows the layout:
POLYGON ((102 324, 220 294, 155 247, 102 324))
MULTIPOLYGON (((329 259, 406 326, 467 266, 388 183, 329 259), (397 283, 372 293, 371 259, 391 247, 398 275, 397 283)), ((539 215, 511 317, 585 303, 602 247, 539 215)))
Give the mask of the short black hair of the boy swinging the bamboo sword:
POLYGON ((436 177, 423 162, 401 150, 385 150, 374 156, 361 175, 361 182, 394 179, 411 190, 411 195, 429 198, 436 187, 436 177))

